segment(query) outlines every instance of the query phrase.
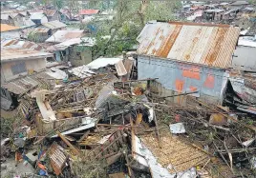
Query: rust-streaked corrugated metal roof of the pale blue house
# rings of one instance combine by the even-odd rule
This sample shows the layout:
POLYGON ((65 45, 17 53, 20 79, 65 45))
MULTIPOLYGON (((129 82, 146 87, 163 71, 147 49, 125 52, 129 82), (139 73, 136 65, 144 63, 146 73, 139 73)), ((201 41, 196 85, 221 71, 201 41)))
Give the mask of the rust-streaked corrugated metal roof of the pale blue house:
POLYGON ((140 32, 139 54, 227 68, 239 28, 195 23, 150 23, 140 32))

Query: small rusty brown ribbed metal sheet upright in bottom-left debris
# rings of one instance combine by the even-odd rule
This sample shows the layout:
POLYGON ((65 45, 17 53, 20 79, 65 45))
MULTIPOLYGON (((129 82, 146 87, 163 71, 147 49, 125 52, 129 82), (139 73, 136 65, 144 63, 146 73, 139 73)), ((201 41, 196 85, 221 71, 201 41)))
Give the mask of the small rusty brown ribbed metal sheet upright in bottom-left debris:
POLYGON ((64 149, 56 143, 53 143, 49 150, 49 157, 55 174, 59 175, 67 161, 67 157, 64 154, 64 149))

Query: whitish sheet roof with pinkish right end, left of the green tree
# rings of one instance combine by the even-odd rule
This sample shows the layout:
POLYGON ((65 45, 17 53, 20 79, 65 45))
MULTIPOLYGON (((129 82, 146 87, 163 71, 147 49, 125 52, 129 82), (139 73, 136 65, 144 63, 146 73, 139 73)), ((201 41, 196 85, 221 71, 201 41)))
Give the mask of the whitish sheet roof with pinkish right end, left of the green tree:
POLYGON ((84 30, 57 30, 46 42, 61 43, 72 38, 83 36, 84 30))

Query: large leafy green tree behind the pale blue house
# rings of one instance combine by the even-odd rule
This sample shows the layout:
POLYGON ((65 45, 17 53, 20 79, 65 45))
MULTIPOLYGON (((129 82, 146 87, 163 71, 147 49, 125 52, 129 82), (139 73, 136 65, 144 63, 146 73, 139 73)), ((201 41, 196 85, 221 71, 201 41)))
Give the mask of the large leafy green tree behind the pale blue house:
POLYGON ((116 11, 113 21, 98 21, 91 25, 97 28, 95 57, 115 56, 122 50, 137 44, 139 32, 149 20, 173 20, 173 13, 181 2, 173 1, 124 1, 116 0, 110 9, 116 11), (106 38, 108 36, 108 38, 106 38))

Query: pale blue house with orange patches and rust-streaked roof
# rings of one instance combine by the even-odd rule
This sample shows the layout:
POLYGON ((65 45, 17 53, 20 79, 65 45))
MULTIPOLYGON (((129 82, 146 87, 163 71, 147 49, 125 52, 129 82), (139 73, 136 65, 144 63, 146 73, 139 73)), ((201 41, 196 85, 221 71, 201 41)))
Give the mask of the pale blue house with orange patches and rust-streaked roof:
POLYGON ((173 94, 197 91, 193 95, 222 103, 239 32, 227 25, 148 23, 137 39, 139 79, 158 78, 173 94))

